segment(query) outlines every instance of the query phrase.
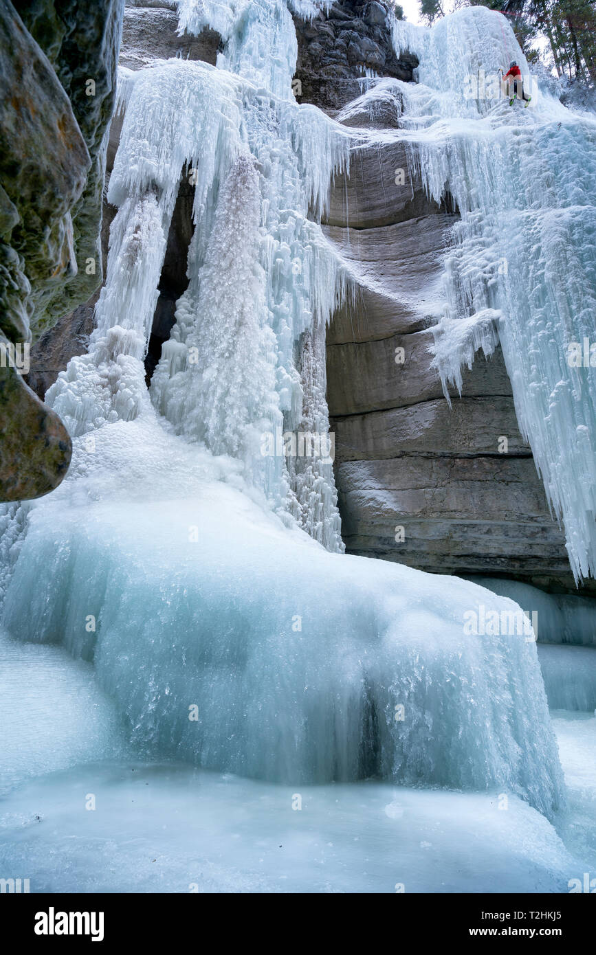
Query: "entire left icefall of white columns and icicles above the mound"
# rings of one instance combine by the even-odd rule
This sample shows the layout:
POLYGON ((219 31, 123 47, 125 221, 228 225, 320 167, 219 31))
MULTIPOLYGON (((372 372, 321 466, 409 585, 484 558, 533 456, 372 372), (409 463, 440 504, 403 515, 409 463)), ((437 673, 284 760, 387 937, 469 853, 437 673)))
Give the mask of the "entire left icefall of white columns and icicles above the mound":
POLYGON ((320 216, 332 174, 346 168, 350 138, 295 102, 296 36, 286 3, 181 4, 181 29, 207 23, 227 39, 218 69, 172 60, 123 72, 125 117, 108 192, 118 213, 96 331, 89 353, 71 362, 48 400, 74 435, 130 420, 146 405, 141 360, 179 183, 188 176, 196 223, 190 284, 153 401, 178 434, 244 461, 245 477, 279 513, 341 551, 330 459, 309 456, 303 466, 280 454, 275 438, 312 421, 325 438, 329 432, 324 356, 321 387, 308 395, 297 364, 304 336, 320 337, 350 290, 309 220, 320 216), (307 397, 316 406, 307 407, 307 397), (274 436, 272 453, 264 435, 274 436))

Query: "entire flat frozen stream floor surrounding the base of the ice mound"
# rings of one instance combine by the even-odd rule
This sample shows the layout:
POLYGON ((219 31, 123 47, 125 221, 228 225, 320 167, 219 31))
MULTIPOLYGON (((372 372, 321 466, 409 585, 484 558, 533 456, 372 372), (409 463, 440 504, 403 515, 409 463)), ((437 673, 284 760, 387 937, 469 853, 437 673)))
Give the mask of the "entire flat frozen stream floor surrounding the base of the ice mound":
POLYGON ((569 800, 555 828, 498 792, 138 762, 87 665, 3 641, 0 674, 0 876, 32 892, 558 893, 596 873, 591 713, 553 711, 569 800))

